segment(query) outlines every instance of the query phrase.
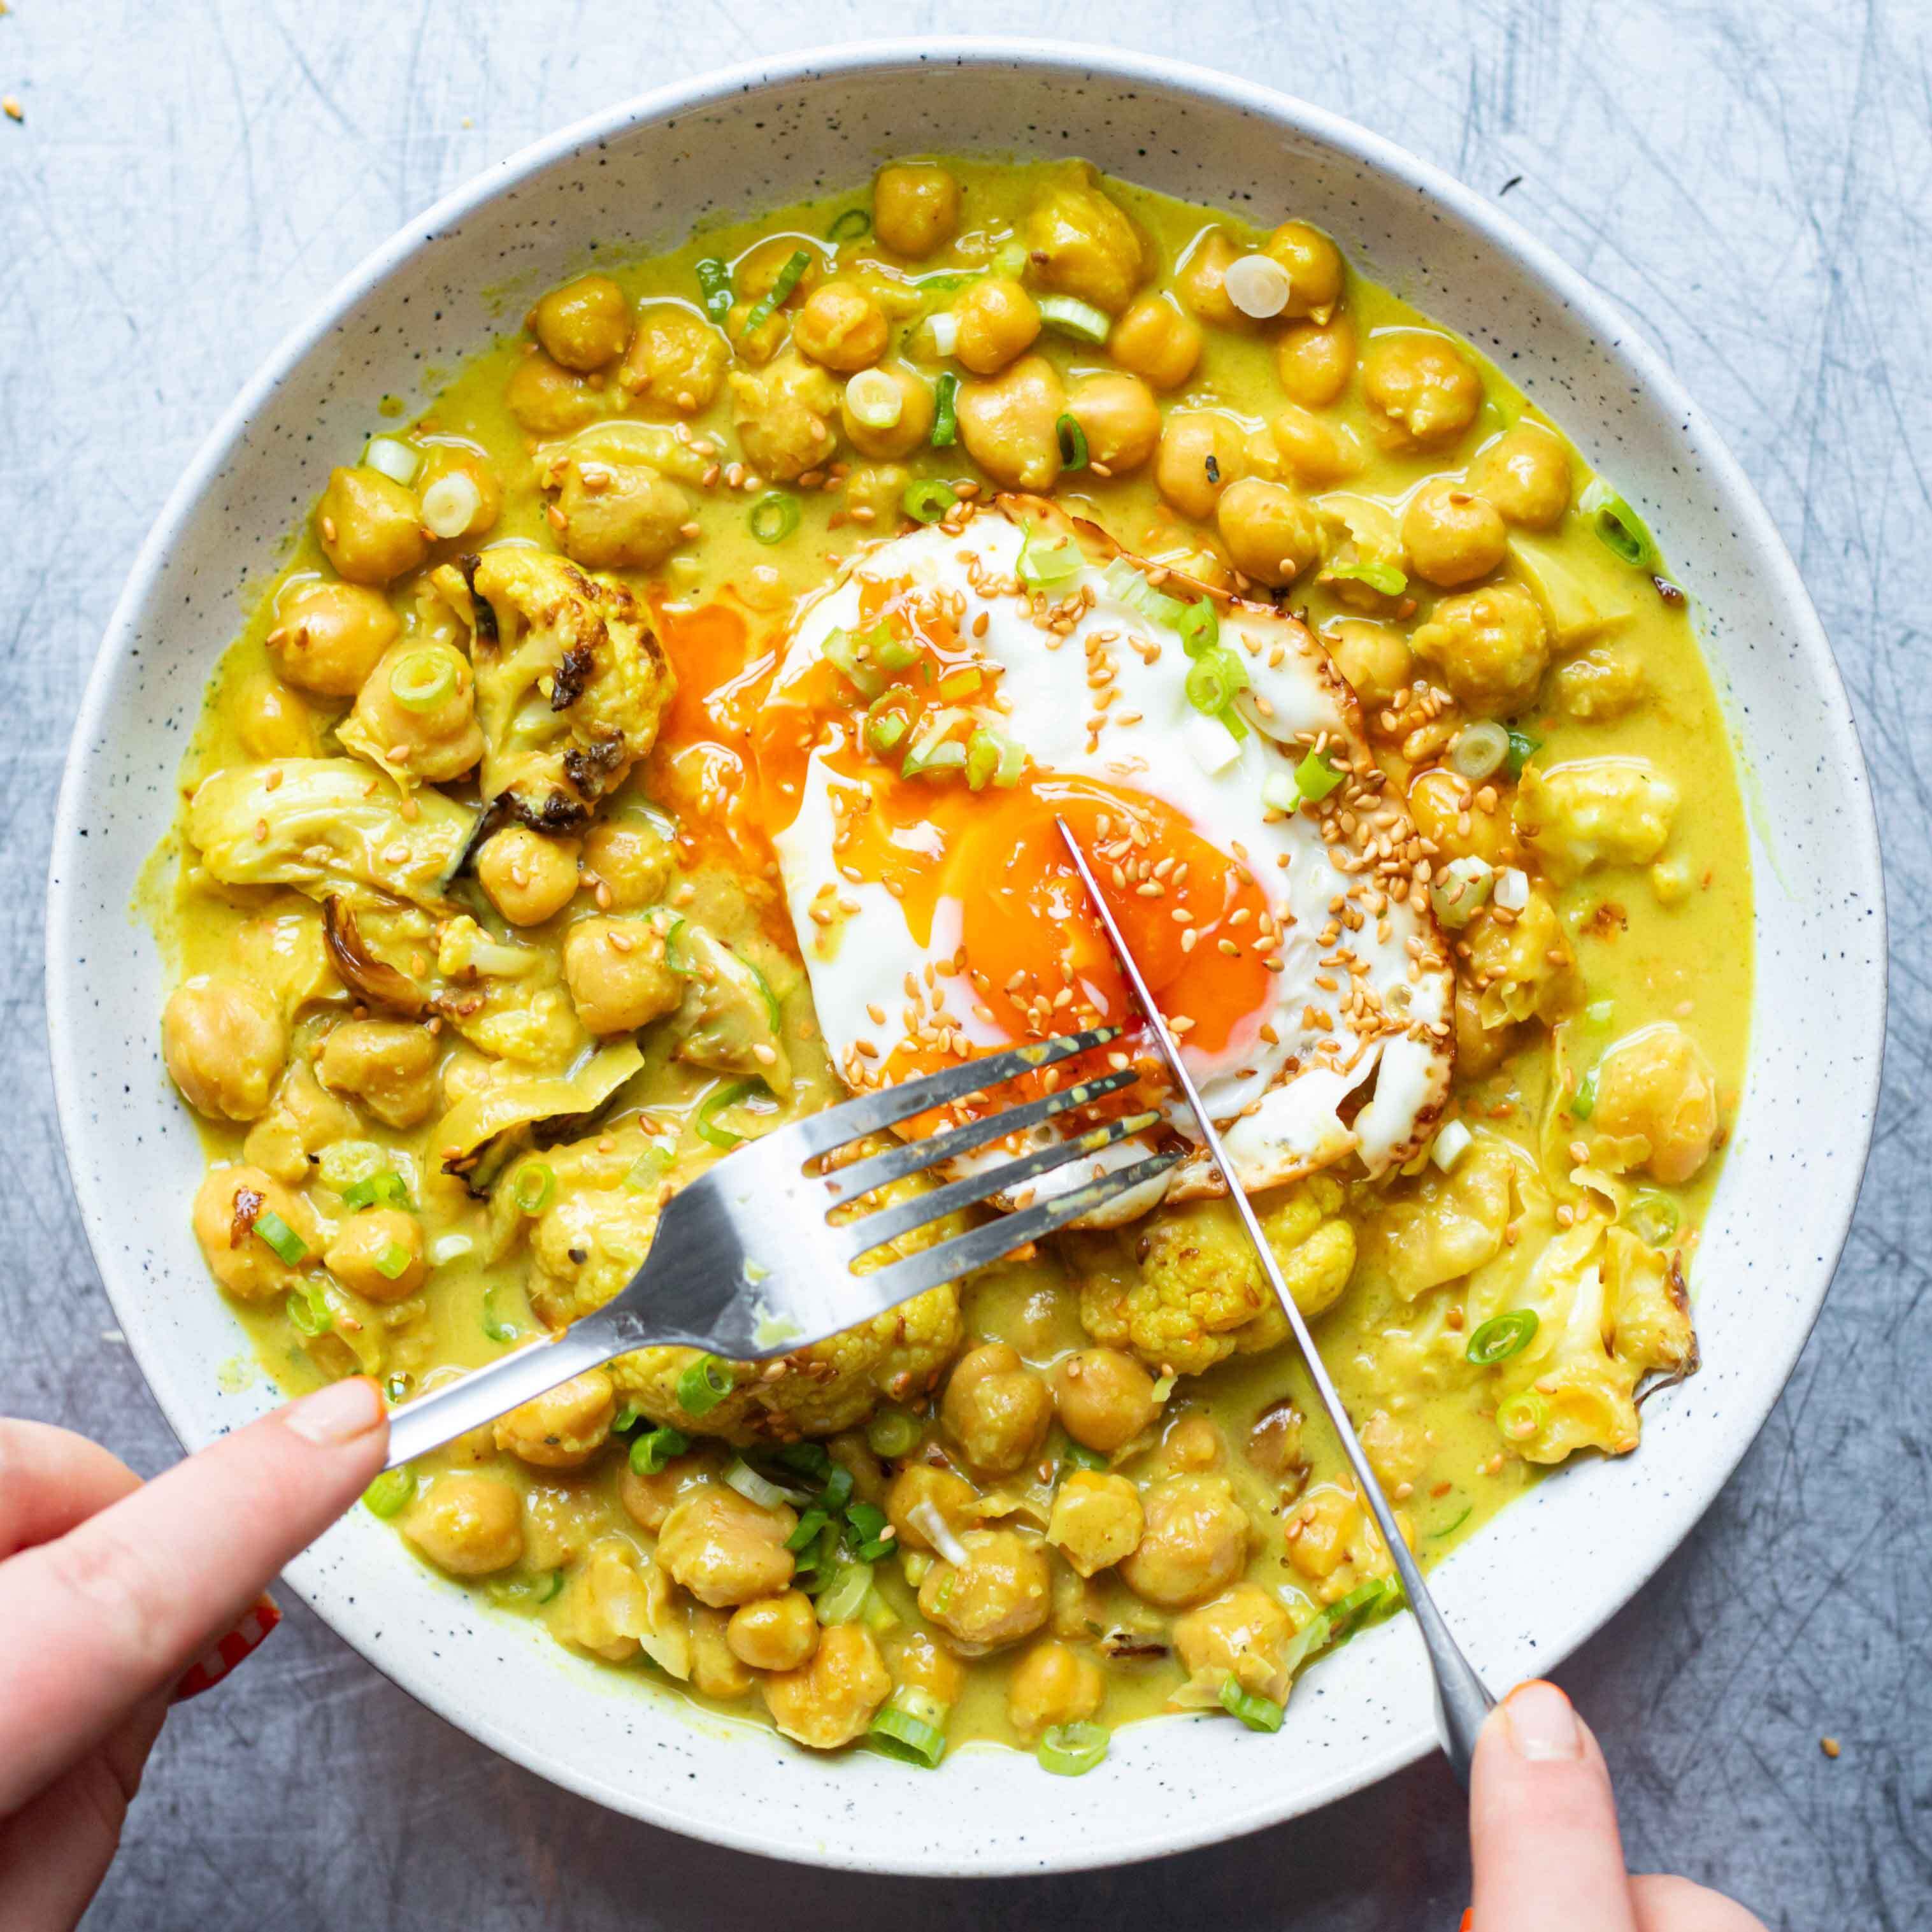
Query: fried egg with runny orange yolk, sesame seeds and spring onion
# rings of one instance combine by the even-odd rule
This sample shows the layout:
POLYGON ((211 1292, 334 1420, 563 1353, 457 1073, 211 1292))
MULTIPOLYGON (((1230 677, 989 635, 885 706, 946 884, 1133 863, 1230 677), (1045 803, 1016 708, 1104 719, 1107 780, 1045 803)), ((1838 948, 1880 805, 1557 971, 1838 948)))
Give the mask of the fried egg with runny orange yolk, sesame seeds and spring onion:
MULTIPOLYGON (((753 742, 852 1092, 1132 1024, 1063 817, 1242 1186, 1350 1155, 1376 1175, 1428 1140, 1453 1059, 1428 869, 1352 692, 1293 616, 1119 553, 1037 498, 962 504, 798 609, 753 742)), ((1142 1072, 1132 1103, 1165 1117, 1150 1136, 1198 1144, 1157 1065, 1142 1072)), ((1124 1140, 1003 1206, 1148 1151, 1124 1140)), ((1200 1153, 1103 1217, 1217 1190, 1200 1153)))

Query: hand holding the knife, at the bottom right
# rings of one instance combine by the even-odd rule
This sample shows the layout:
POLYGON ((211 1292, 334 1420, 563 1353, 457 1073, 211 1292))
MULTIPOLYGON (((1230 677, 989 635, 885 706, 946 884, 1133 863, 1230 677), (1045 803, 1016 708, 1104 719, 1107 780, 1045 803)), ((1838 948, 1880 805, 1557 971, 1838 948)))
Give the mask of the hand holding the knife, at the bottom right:
POLYGON ((1468 1787, 1470 1932, 1764 1932, 1687 1878, 1629 1876, 1609 1768, 1549 1683, 1519 1685, 1476 1739, 1468 1787))

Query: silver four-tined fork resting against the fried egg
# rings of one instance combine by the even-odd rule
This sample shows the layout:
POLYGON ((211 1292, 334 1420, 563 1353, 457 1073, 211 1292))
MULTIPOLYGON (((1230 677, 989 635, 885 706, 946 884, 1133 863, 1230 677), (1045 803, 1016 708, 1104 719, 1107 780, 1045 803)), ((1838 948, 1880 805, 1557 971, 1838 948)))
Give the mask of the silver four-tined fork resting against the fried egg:
POLYGON ((763 1362, 790 1354, 869 1321, 941 1281, 954 1281, 974 1267, 997 1262, 1024 1242, 1051 1235, 1117 1194, 1167 1173, 1180 1159, 1179 1151, 1153 1153, 869 1273, 852 1271, 860 1258, 883 1242, 993 1194, 1009 1194, 1055 1167, 1144 1132, 1159 1121, 1157 1113, 1124 1115, 927 1194, 871 1213, 852 1211, 866 1194, 887 1182, 923 1173, 989 1140, 1024 1132, 1132 1086, 1132 1066, 1078 1080, 1070 1088, 947 1128, 927 1140, 813 1173, 825 1155, 854 1140, 1092 1053, 1119 1039, 1121 1032, 1119 1026, 1099 1026, 966 1061, 923 1080, 827 1107, 734 1148, 667 1202, 643 1267, 614 1300, 560 1335, 518 1349, 500 1362, 398 1408, 390 1418, 384 1466, 410 1463, 632 1349, 682 1345, 728 1362, 763 1362))

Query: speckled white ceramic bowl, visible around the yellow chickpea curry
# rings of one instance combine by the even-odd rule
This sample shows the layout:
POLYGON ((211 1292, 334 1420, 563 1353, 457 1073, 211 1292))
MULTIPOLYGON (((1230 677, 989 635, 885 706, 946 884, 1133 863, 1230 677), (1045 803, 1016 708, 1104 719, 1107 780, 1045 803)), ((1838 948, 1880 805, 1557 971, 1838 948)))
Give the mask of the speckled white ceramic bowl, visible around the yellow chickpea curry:
MULTIPOLYGON (((191 1447, 272 1393, 224 1391, 242 1345, 187 1229, 201 1159, 156 1051, 162 983, 129 925, 166 831, 203 682, 290 520, 383 392, 417 392, 500 325, 485 290, 541 288, 591 242, 659 247, 715 211, 864 182, 883 156, 1084 155, 1150 187, 1308 216, 1368 272, 1492 348, 1662 535, 1690 587, 1752 804, 1756 1030, 1696 1265, 1704 1370, 1646 1410, 1642 1449, 1542 1484, 1435 1573, 1492 1685, 1596 1631, 1692 1528, 1810 1329, 1870 1136, 1884 904, 1864 763, 1830 647, 1756 497, 1613 307, 1493 207, 1387 141, 1244 81, 1099 48, 852 46, 667 89, 572 128, 412 222, 249 383, 182 479, 108 626, 54 837, 48 1022, 95 1260, 191 1447)), ((1737 935, 1745 943, 1745 935, 1737 935)), ((290 1582, 452 1723, 574 1791, 697 1837, 823 1864, 993 1874, 1146 1859, 1293 1816, 1434 1743, 1399 1619, 1296 1690, 1279 1737, 1157 1721, 1055 1779, 993 1748, 935 1776, 813 1760, 568 1658, 412 1563, 365 1511, 290 1582)))

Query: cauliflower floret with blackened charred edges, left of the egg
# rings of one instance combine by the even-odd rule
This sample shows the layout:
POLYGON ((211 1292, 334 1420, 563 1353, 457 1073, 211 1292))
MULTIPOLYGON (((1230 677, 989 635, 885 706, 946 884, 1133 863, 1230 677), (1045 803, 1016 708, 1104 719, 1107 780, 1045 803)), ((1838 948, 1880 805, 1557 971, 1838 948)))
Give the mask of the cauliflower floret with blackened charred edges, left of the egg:
POLYGON ((485 551, 433 582, 471 630, 483 796, 531 831, 574 831, 651 750, 676 690, 641 605, 543 551, 485 551))

